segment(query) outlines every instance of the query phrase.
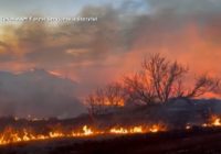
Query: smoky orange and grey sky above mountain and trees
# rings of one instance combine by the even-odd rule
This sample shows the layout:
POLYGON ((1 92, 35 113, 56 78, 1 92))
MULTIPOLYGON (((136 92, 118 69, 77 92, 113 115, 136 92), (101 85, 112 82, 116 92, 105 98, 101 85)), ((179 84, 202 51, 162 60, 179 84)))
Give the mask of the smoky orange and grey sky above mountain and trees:
POLYGON ((45 69, 76 96, 140 68, 149 53, 221 75, 220 0, 0 0, 0 16, 97 16, 96 22, 0 22, 0 69, 45 69))

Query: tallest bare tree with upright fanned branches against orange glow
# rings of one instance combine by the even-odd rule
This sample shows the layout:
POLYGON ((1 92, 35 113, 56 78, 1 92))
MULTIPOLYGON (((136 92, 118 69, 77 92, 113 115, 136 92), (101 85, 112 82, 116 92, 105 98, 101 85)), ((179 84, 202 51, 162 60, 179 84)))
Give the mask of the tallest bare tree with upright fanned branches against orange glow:
POLYGON ((143 63, 144 72, 149 77, 158 99, 167 102, 169 98, 176 97, 175 89, 181 84, 188 68, 177 62, 167 61, 160 54, 151 55, 143 63))

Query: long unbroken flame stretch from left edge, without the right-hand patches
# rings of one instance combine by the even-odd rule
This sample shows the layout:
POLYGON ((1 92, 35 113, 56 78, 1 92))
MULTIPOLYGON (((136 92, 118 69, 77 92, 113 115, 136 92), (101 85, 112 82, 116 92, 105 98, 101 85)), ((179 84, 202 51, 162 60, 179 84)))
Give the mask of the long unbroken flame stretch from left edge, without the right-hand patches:
POLYGON ((135 133, 156 133, 158 131, 164 131, 160 125, 152 125, 150 128, 136 125, 131 128, 124 127, 114 127, 106 131, 95 131, 95 129, 90 128, 88 125, 83 125, 80 131, 72 131, 70 133, 62 131, 51 131, 48 134, 38 134, 32 130, 22 129, 15 130, 12 128, 7 128, 0 133, 0 145, 18 143, 18 142, 28 142, 28 141, 36 141, 36 140, 49 140, 49 139, 57 139, 57 138, 83 138, 91 135, 101 135, 101 134, 135 134, 135 133))

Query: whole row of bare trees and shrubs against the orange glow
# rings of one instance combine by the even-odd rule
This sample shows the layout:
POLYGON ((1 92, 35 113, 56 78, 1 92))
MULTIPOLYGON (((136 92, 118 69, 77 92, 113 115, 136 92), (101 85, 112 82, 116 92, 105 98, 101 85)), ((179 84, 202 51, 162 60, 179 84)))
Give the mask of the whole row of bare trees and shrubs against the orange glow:
POLYGON ((189 69, 177 61, 154 54, 141 63, 141 70, 125 76, 120 82, 97 88, 86 98, 90 114, 103 114, 128 105, 167 103, 170 99, 192 99, 207 92, 218 92, 220 78, 207 74, 194 78, 187 87, 189 69))

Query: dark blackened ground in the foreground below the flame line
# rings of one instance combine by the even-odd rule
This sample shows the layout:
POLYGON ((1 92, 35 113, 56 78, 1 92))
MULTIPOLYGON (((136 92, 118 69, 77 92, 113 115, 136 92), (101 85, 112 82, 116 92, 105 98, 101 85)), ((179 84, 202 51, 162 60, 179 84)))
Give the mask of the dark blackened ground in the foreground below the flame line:
POLYGON ((221 154, 221 129, 11 144, 0 154, 221 154))

